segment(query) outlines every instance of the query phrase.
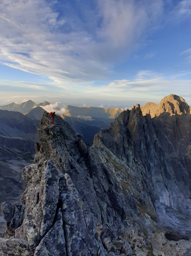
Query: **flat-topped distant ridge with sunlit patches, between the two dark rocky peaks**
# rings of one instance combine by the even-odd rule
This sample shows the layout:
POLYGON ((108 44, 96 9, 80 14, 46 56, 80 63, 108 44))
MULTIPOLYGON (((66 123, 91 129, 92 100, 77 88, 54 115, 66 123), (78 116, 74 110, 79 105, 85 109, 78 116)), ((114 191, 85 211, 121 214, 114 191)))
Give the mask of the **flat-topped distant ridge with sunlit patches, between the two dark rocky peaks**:
POLYGON ((118 117, 119 114, 124 111, 124 109, 119 108, 99 108, 99 107, 75 107, 66 106, 65 116, 79 117, 79 118, 98 118, 98 119, 114 119, 118 117))

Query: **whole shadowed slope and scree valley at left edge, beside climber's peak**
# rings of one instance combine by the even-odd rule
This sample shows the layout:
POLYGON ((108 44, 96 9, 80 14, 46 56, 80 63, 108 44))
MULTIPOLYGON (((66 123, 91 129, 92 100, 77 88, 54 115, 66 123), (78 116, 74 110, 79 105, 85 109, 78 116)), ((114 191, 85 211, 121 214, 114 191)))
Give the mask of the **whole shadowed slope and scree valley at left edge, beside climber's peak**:
POLYGON ((0 110, 0 119, 0 202, 13 203, 26 188, 22 168, 34 159, 37 127, 19 112, 0 110))

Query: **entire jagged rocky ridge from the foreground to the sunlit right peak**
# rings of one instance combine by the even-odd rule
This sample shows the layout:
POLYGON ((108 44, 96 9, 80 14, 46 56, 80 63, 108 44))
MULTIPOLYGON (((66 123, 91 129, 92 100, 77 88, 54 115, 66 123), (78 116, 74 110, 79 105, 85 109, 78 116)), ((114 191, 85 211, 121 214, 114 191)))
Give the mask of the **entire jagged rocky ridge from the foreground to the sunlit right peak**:
POLYGON ((21 202, 1 204, 0 255, 191 255, 189 109, 176 95, 152 115, 137 104, 92 147, 45 112, 21 202))

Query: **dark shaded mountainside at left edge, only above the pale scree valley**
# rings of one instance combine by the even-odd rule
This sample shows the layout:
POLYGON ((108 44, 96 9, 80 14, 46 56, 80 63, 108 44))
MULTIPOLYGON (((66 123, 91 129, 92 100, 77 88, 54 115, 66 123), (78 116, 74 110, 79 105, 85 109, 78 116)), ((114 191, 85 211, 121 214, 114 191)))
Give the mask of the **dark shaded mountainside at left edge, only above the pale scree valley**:
POLYGON ((32 157, 37 128, 19 112, 0 110, 0 159, 32 157))

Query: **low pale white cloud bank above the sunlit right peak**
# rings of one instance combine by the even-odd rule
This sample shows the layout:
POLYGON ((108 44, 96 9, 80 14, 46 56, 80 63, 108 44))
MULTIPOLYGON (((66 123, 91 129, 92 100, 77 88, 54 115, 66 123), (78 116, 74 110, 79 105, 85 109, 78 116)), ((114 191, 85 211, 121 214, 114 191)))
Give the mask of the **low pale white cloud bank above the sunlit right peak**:
POLYGON ((161 74, 142 70, 138 72, 134 81, 115 80, 108 85, 92 88, 86 93, 93 93, 95 97, 96 95, 101 95, 102 97, 115 95, 115 97, 121 97, 121 99, 135 97, 154 100, 161 99, 171 93, 181 96, 182 92, 187 92, 187 95, 190 94, 191 80, 169 80, 161 76, 161 74))

